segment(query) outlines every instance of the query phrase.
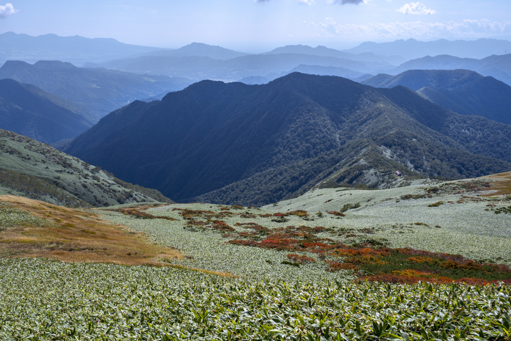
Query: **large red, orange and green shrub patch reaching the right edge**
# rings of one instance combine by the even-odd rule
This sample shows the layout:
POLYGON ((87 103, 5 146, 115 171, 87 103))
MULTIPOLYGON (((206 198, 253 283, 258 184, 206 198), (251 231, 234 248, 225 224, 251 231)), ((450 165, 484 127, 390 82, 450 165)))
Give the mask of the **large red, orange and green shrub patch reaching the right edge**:
MULTIPOLYGON (((267 229, 255 223, 237 223, 253 232, 238 232, 229 244, 293 252, 283 264, 300 266, 315 263, 306 254, 315 254, 324 261, 327 271, 353 270, 358 281, 390 283, 464 282, 511 284, 511 269, 506 265, 478 263, 461 255, 433 253, 412 248, 385 247, 378 240, 367 239, 361 244, 345 245, 317 234, 332 232, 321 226, 286 226, 267 229), (296 254, 299 252, 300 254, 296 254)), ((421 222, 415 225, 426 225, 421 222)), ((370 235, 370 229, 358 231, 370 235)), ((343 231, 343 233, 352 233, 343 231)), ((229 237, 233 235, 225 235, 229 237)))

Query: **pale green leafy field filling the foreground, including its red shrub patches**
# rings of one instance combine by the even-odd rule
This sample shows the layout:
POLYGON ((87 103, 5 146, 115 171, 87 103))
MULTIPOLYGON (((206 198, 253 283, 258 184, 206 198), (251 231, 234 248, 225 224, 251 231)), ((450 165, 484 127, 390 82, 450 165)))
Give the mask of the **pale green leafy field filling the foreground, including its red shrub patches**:
POLYGON ((506 340, 511 198, 497 183, 88 209, 183 257, 0 260, 0 339, 506 340))

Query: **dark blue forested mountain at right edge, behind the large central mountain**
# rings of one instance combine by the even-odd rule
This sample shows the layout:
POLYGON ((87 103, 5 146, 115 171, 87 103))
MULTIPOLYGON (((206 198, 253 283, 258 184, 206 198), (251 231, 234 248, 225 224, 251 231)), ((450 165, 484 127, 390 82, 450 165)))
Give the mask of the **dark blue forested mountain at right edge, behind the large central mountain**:
POLYGON ((380 74, 361 83, 406 86, 446 109, 511 124, 511 86, 475 71, 410 70, 397 76, 380 74))

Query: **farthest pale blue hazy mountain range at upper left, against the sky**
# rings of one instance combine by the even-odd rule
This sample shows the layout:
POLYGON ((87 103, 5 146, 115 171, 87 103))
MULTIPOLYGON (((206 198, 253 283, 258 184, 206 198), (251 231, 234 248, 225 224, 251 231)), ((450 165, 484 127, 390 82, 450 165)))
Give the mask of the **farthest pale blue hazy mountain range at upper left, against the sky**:
POLYGON ((112 38, 61 37, 45 34, 37 37, 6 32, 0 34, 0 65, 7 60, 34 63, 39 60, 60 60, 82 65, 130 55, 162 50, 130 45, 112 38))

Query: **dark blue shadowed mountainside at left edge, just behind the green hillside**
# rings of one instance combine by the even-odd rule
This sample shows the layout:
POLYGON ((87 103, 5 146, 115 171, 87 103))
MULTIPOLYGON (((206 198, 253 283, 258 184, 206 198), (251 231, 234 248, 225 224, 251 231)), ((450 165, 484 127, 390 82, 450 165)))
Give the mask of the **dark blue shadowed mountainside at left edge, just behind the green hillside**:
POLYGON ((72 139, 94 123, 80 105, 12 79, 0 80, 0 128, 43 143, 72 139))

